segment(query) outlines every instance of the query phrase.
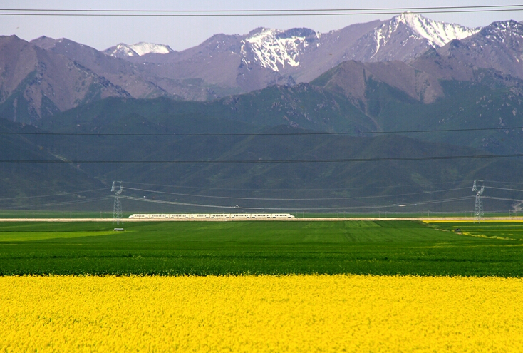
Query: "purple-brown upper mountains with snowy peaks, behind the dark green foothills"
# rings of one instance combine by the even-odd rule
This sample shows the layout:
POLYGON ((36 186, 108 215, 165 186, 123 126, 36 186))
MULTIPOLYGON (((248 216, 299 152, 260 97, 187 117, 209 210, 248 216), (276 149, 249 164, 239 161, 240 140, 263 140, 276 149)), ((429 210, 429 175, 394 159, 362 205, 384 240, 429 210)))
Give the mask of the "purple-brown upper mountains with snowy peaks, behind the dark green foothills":
MULTIPOLYGON (((515 21, 471 29, 405 13, 328 33, 259 28, 245 35, 217 34, 185 51, 145 43, 98 51, 68 39, 27 42, 3 36, 0 108, 6 118, 34 123, 106 96, 208 101, 310 82, 344 61, 400 61, 429 75, 423 79, 428 83, 475 80, 477 68, 523 78, 521 35, 522 25, 515 21)), ((428 101, 437 95, 431 92, 428 101)))

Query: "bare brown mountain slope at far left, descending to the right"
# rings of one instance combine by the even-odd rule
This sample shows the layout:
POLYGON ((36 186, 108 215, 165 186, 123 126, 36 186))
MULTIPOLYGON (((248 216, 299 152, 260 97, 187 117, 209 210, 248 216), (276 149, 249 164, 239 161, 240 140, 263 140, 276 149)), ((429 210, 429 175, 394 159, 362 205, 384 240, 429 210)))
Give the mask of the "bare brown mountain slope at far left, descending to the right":
POLYGON ((65 56, 17 36, 0 36, 0 113, 35 123, 42 116, 129 93, 65 56))

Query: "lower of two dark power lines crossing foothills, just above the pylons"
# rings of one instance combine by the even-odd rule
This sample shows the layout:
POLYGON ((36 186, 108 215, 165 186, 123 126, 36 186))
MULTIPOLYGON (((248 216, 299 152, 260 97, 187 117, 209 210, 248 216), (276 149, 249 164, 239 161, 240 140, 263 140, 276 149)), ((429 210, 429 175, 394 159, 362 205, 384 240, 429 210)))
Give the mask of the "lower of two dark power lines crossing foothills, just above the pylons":
POLYGON ((296 160, 0 160, 0 163, 73 163, 73 164, 278 164, 278 163, 347 163, 387 162, 404 160, 455 160, 523 157, 523 153, 506 155, 442 155, 423 157, 390 158, 341 158, 341 159, 296 159, 296 160))

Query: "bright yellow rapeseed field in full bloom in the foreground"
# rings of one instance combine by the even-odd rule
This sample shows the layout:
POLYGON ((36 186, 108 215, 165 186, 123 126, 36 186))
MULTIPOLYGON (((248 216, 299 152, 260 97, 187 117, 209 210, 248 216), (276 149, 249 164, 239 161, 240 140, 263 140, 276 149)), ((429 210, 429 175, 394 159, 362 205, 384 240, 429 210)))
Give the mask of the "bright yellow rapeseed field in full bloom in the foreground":
POLYGON ((522 349, 522 279, 0 277, 0 352, 522 349))

